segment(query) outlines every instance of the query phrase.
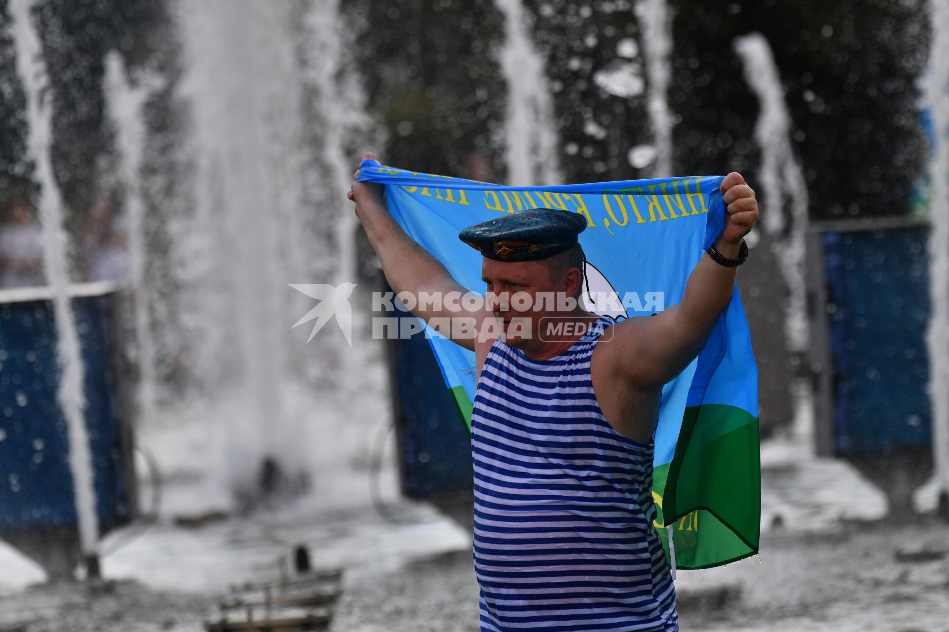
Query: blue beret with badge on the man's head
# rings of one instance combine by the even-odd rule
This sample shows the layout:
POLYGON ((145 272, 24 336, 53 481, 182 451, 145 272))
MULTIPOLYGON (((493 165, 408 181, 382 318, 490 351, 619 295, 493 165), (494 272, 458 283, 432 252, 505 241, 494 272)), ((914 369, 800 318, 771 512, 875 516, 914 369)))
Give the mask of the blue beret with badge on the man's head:
POLYGON ((499 262, 546 259, 577 243, 586 228, 580 213, 555 208, 530 208, 468 226, 458 239, 499 262))

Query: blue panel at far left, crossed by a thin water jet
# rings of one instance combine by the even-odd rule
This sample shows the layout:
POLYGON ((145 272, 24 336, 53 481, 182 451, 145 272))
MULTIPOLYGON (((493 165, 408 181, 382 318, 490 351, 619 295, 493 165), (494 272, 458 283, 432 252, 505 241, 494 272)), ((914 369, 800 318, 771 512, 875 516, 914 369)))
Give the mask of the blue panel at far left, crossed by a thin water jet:
MULTIPOLYGON (((100 533, 136 513, 130 400, 120 338, 121 294, 109 283, 70 288, 85 363, 85 424, 100 533)), ((0 290, 0 538, 50 580, 80 559, 68 435, 57 401, 61 370, 46 288, 0 290)))

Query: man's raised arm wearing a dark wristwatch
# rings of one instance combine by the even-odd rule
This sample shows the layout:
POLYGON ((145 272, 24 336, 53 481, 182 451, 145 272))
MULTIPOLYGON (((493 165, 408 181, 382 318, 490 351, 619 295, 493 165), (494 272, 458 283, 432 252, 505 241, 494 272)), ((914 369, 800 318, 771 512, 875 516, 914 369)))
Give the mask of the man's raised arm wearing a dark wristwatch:
MULTIPOLYGON (((728 213, 714 244, 723 257, 736 259, 742 238, 758 219, 754 190, 732 172, 721 183, 728 213)), ((682 294, 682 300, 657 316, 631 318, 616 325, 614 357, 621 371, 641 387, 661 387, 695 359, 728 305, 737 267, 702 256, 682 294)))

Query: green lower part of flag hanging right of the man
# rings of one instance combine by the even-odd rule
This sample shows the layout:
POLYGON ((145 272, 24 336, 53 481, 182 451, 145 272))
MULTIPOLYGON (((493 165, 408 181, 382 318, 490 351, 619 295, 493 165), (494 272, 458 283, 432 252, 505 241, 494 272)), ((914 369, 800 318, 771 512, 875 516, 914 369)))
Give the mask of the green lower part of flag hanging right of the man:
POLYGON ((737 406, 686 407, 672 462, 653 472, 653 500, 667 557, 664 520, 672 523, 677 568, 754 555, 761 530, 757 418, 737 406))

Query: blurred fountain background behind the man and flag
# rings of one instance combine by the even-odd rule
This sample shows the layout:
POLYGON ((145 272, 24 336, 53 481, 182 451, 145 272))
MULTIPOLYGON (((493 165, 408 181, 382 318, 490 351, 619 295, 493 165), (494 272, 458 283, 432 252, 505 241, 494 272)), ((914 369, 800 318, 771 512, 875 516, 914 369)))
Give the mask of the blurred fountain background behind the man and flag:
POLYGON ((949 630, 947 88, 943 0, 0 0, 0 630, 478 629, 363 151, 742 172, 761 552, 679 572, 683 629, 949 630), (288 284, 342 282, 308 341, 288 284))

